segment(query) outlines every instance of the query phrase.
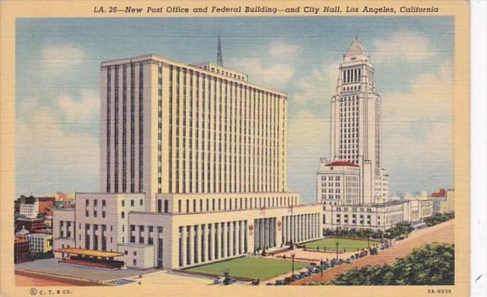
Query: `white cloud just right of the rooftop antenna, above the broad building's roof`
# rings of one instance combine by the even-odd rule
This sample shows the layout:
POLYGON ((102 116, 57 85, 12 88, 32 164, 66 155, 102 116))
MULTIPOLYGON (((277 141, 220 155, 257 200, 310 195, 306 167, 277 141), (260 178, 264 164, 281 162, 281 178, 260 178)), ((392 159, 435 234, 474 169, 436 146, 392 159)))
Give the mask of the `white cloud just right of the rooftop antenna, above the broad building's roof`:
POLYGON ((287 83, 295 72, 294 67, 290 64, 264 64, 259 58, 232 59, 230 64, 235 69, 249 74, 252 81, 274 87, 284 86, 284 83, 287 83))

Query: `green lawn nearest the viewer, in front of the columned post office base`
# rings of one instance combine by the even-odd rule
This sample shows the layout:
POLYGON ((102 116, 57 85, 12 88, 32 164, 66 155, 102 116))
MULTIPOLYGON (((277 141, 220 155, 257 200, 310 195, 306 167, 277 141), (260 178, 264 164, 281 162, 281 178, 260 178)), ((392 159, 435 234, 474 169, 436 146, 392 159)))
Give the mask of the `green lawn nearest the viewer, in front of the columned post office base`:
MULTIPOLYGON (((294 269, 298 270, 308 266, 307 263, 294 262, 294 269)), ((191 272, 206 272, 223 275, 228 272, 230 276, 247 277, 250 279, 270 279, 274 276, 291 272, 292 263, 287 260, 274 260, 258 257, 242 257, 228 261, 206 264, 189 269, 191 272)))

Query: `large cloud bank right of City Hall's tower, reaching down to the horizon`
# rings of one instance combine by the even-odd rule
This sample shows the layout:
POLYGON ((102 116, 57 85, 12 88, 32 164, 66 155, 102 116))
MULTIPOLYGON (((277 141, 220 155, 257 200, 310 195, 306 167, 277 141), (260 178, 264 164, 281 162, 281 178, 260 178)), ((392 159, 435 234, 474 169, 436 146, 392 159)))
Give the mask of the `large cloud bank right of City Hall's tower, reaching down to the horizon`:
POLYGON ((384 164, 397 187, 393 190, 452 185, 452 65, 418 76, 409 91, 382 99, 384 164))

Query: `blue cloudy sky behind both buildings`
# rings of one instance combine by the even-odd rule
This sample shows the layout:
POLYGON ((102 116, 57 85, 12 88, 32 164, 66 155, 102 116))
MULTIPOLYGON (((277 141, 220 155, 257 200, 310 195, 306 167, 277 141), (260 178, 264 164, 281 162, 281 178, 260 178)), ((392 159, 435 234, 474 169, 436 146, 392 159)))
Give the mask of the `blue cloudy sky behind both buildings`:
POLYGON ((223 62, 289 94, 289 190, 315 200, 330 96, 357 35, 382 97, 392 192, 453 187, 449 17, 24 18, 16 23, 16 192, 99 191, 99 65, 159 54, 223 62))

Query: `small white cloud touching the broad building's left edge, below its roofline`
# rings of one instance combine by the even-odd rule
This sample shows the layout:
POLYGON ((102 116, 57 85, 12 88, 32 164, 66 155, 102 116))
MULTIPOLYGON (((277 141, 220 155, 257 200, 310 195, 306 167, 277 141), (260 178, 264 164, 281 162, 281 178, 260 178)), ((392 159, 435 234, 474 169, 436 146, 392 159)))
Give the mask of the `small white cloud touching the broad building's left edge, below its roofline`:
POLYGON ((57 97, 57 105, 69 120, 88 121, 99 117, 99 94, 93 90, 82 89, 81 100, 69 95, 57 97))

